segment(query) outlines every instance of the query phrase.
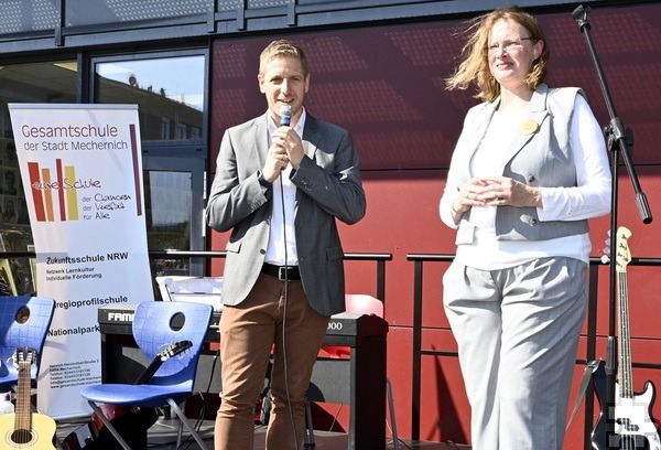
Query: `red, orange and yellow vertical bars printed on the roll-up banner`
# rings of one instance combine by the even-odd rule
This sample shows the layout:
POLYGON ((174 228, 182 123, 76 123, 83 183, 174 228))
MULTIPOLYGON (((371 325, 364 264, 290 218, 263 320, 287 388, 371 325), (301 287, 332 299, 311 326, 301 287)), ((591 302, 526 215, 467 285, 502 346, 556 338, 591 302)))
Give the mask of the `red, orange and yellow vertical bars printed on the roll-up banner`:
POLYGON ((78 221, 78 193, 73 183, 67 181, 76 179, 76 168, 63 165, 62 159, 56 159, 55 165, 56 181, 52 181, 51 169, 41 168, 39 162, 28 162, 36 219, 54 222, 56 211, 62 222, 78 221), (57 207, 53 204, 54 197, 57 199, 57 207))

